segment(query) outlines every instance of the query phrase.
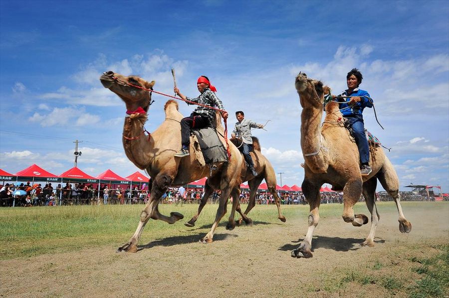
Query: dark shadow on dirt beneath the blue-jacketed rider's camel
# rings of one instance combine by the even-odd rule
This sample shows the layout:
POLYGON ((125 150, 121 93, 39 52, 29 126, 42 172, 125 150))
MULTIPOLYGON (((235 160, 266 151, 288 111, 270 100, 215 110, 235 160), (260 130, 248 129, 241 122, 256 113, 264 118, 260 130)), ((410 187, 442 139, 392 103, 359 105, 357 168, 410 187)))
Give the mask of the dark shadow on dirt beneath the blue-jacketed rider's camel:
MULTIPOLYGON (((292 243, 284 244, 279 247, 278 250, 290 251, 298 248, 299 244, 303 239, 298 241, 292 241, 292 243)), ((358 250, 361 248, 360 244, 363 243, 365 239, 355 239, 355 238, 340 238, 340 237, 326 237, 326 236, 316 236, 312 239, 312 251, 317 248, 332 249, 337 252, 347 252, 350 250, 358 250)), ((377 239, 375 243, 384 243, 385 240, 377 239)))

